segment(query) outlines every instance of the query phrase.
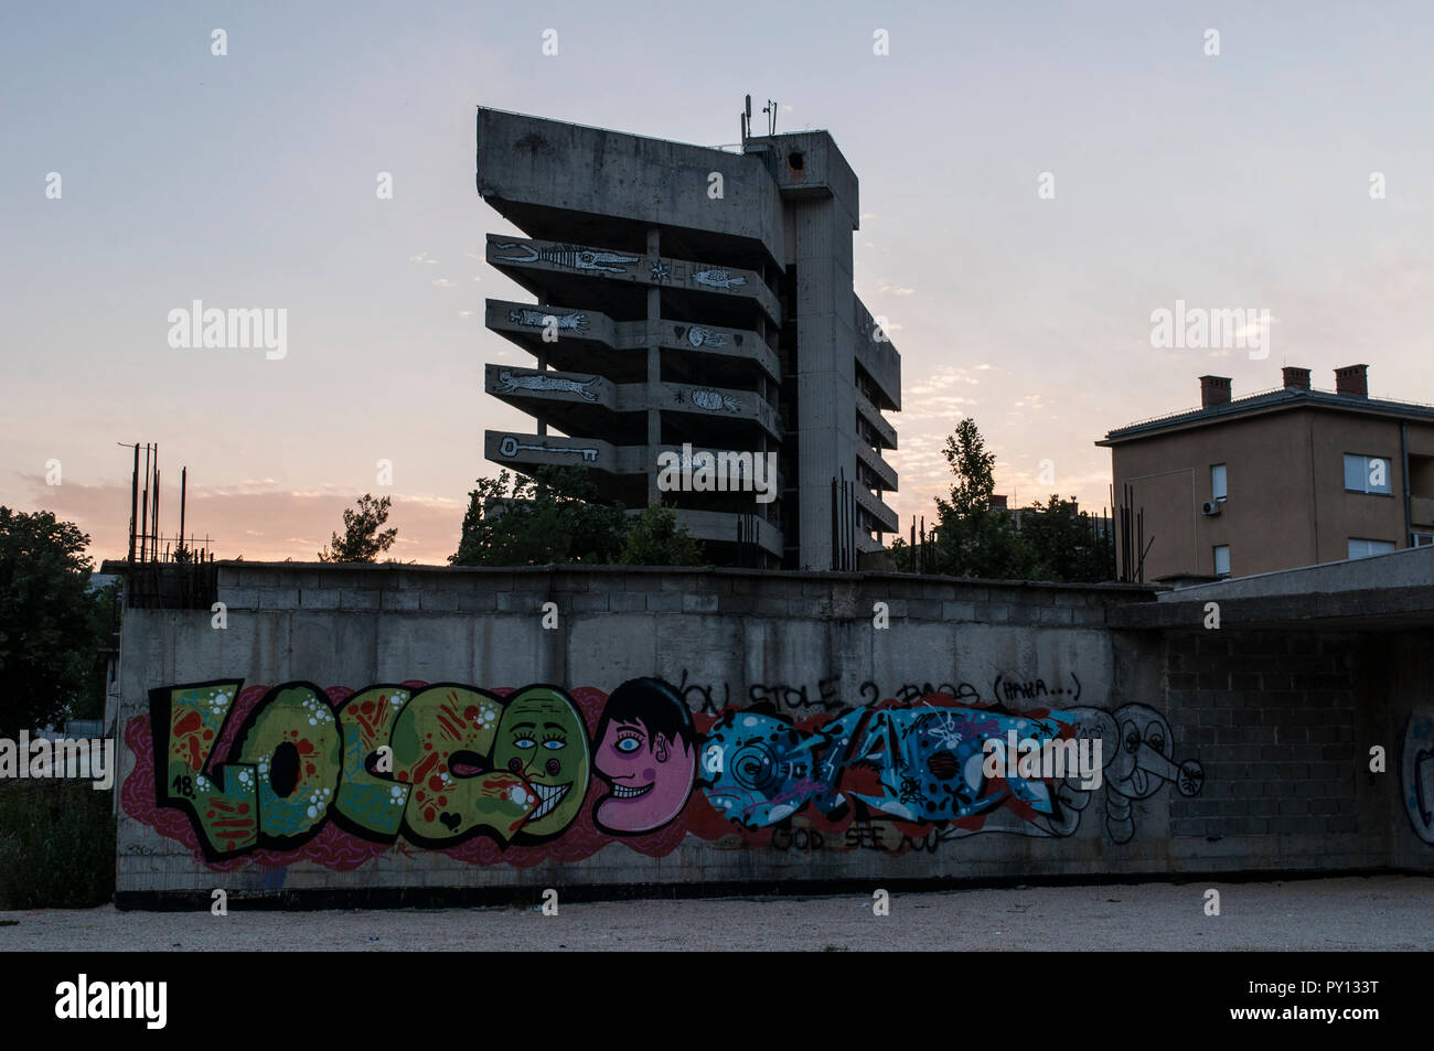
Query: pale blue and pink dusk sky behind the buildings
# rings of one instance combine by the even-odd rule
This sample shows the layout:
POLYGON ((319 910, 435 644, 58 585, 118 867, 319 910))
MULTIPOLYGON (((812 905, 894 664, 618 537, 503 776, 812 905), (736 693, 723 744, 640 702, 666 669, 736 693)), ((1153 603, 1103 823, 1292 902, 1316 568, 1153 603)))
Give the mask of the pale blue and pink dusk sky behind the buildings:
POLYGON ((313 559, 373 492, 390 555, 443 562, 498 472, 483 430, 532 430, 482 386, 532 363, 483 300, 532 297, 482 258, 516 231, 475 189, 476 108, 721 145, 750 92, 860 179, 903 529, 934 518, 962 416, 997 492, 1098 509, 1093 443, 1199 404, 1202 373, 1239 397, 1368 363, 1372 396, 1434 401, 1430 54, 1421 3, 7 4, 0 505, 120 556, 120 443, 155 442, 165 532, 188 465, 219 558, 313 559), (287 354, 171 347, 195 300, 287 310, 287 354), (1177 300, 1268 311, 1269 356, 1153 347, 1177 300))

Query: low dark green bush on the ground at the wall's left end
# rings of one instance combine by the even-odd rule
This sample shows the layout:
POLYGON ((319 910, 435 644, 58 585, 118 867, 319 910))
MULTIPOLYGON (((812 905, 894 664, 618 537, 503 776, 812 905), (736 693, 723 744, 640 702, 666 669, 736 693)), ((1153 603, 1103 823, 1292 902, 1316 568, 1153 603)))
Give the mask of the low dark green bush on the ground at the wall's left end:
POLYGON ((89 781, 0 786, 0 909, 86 909, 115 898, 113 793, 89 781))

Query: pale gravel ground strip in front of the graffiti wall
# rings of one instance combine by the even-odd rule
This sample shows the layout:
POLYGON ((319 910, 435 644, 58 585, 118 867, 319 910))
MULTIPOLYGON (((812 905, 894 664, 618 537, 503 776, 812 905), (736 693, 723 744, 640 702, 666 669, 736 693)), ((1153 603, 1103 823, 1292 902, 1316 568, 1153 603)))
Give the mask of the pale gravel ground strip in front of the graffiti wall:
POLYGON ((1140 883, 901 893, 872 900, 721 898, 536 909, 201 913, 0 912, 13 949, 1197 949, 1434 948, 1434 879, 1140 883), (1207 888, 1220 915, 1205 915, 1207 888), (19 921, 19 922, 13 922, 19 921))

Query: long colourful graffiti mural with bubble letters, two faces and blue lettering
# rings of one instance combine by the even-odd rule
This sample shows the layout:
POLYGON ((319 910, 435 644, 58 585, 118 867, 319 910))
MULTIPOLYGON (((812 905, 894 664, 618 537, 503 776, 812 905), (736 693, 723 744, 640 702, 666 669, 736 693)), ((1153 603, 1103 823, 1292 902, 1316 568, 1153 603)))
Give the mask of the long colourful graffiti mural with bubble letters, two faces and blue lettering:
POLYGON ((875 700, 880 688, 863 684, 855 704, 819 691, 806 714, 790 710, 804 691, 803 705, 754 693, 718 707, 685 674, 611 694, 168 685, 126 726, 122 806, 214 869, 354 869, 424 850, 472 865, 581 860, 614 842, 664 856, 688 836, 902 853, 1084 827, 1126 843, 1139 800, 1200 791, 1200 764, 1173 754, 1156 708, 1076 704, 1074 681, 992 691, 923 684, 875 700))

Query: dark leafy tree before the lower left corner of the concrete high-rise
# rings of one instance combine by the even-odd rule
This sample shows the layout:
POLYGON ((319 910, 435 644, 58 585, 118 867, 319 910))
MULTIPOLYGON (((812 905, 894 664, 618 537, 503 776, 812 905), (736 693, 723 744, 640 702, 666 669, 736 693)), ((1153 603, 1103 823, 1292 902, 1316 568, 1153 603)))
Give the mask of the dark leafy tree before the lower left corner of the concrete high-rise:
POLYGON ((582 467, 502 470, 476 486, 452 565, 611 565, 622 551, 622 506, 599 502, 582 467))

